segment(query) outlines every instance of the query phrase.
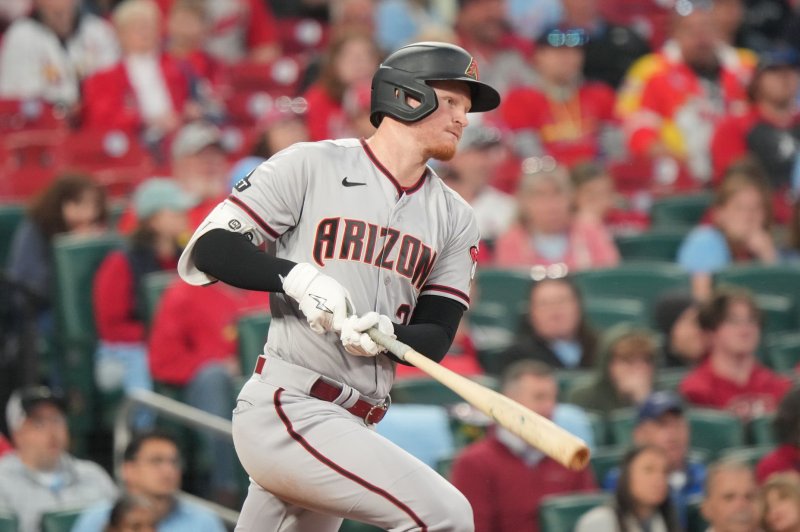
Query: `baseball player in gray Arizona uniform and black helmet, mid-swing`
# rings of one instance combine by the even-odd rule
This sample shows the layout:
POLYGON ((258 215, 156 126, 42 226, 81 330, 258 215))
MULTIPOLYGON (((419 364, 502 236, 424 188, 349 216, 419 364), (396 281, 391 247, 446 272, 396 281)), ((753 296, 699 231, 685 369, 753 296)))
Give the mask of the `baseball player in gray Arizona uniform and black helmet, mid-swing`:
POLYGON ((265 353, 233 412, 251 478, 236 530, 336 531, 344 517, 473 530, 463 495, 373 430, 397 360, 365 331, 437 361, 447 352, 469 305, 479 234, 470 207, 426 163, 453 156, 468 112, 499 103, 462 48, 401 48, 373 77, 372 137, 276 154, 193 235, 184 280, 271 292, 265 353), (266 242, 274 254, 259 250, 266 242))

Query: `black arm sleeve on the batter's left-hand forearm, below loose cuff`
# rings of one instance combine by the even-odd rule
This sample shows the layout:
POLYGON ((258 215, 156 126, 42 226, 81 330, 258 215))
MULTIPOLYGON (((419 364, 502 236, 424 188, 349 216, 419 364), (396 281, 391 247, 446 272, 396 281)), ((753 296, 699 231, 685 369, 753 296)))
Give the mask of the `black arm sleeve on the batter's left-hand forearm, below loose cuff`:
POLYGON ((213 229, 197 239, 194 263, 224 283, 264 292, 283 292, 278 276, 286 276, 296 264, 264 253, 243 234, 225 229, 213 229))

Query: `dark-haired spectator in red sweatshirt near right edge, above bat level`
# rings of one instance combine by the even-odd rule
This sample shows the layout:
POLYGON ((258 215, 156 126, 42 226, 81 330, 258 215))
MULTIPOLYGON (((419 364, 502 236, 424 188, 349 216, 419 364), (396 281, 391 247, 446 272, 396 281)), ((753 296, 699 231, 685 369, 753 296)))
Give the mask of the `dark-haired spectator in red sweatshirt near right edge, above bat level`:
POLYGON ((698 319, 709 352, 683 379, 681 394, 694 405, 725 409, 745 421, 775 411, 792 381, 758 361, 762 315, 753 296, 741 288, 717 289, 698 319))

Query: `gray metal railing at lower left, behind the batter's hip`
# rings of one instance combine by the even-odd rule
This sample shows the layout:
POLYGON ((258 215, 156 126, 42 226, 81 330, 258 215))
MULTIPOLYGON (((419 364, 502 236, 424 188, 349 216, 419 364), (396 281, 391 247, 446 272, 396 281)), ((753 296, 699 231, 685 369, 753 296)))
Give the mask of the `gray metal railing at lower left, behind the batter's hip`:
MULTIPOLYGON (((165 395, 149 390, 131 390, 120 405, 119 413, 114 422, 114 472, 116 478, 122 478, 122 458, 125 448, 131 441, 132 429, 129 421, 131 413, 136 407, 144 406, 157 412, 160 416, 179 421, 191 428, 210 430, 217 434, 231 438, 230 420, 209 414, 203 410, 189 406, 165 395)), ((178 497, 188 502, 200 504, 216 513, 228 525, 235 525, 239 519, 239 512, 231 510, 220 504, 202 499, 184 491, 178 497)))

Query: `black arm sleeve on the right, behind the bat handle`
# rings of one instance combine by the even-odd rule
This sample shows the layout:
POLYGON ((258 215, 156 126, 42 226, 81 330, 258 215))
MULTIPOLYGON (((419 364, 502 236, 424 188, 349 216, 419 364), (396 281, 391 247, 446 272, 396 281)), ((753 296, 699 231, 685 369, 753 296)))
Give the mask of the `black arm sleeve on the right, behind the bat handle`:
MULTIPOLYGON (((434 362, 441 362, 456 336, 464 307, 443 296, 422 296, 408 325, 395 325, 397 339, 434 362)), ((392 356, 397 362, 401 360, 392 356)))

